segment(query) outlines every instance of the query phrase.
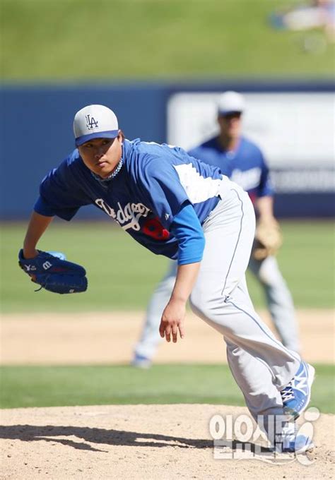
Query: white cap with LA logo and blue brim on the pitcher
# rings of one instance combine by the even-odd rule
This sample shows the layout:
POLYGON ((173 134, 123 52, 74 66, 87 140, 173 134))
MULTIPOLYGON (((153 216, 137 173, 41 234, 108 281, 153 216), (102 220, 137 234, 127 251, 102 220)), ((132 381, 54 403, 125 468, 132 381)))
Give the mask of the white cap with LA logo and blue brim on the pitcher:
POLYGON ((88 105, 74 116, 77 147, 92 138, 115 138, 118 133, 117 116, 103 105, 88 105))

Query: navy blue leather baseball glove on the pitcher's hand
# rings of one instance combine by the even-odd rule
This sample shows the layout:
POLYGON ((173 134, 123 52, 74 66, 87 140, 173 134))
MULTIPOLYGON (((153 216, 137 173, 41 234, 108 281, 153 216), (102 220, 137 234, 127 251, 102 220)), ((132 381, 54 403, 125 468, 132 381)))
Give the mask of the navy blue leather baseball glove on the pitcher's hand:
POLYGON ((26 260, 23 250, 18 253, 18 265, 33 282, 40 284, 49 292, 74 294, 87 289, 86 270, 76 263, 62 260, 59 256, 38 251, 35 258, 26 260))

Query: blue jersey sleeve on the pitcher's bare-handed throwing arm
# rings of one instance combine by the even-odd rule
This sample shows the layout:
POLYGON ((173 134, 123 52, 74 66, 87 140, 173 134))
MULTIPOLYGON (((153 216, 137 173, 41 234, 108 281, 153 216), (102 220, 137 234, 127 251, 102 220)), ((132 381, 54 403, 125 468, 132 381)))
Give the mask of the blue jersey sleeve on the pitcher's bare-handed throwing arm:
POLYGON ((143 195, 163 226, 170 229, 175 215, 188 201, 175 167, 163 158, 151 158, 141 173, 143 195))

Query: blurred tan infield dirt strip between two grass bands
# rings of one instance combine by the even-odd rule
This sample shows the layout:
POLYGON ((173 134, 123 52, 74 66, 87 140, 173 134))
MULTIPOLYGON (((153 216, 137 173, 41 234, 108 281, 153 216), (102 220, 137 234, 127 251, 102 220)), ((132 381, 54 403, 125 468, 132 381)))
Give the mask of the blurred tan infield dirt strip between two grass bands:
MULTIPOLYGON (((269 314, 260 312, 270 328, 269 314)), ((307 361, 334 362, 333 310, 298 310, 302 354, 307 361)), ((1 322, 4 365, 129 364, 144 313, 34 313, 6 315, 1 322)), ((187 312, 186 335, 177 344, 162 342, 155 362, 226 361, 221 335, 187 312)))

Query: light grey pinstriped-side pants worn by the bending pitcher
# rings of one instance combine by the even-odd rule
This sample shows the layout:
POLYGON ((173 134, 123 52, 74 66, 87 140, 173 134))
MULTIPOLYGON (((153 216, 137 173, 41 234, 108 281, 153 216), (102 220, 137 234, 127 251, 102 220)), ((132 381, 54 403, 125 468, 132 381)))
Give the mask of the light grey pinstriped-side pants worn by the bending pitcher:
POLYGON ((280 390, 298 370, 300 356, 283 347, 254 311, 245 282, 254 208, 233 182, 223 189, 223 200, 203 225, 206 246, 190 305, 223 335, 230 369, 253 416, 282 414, 280 390))

